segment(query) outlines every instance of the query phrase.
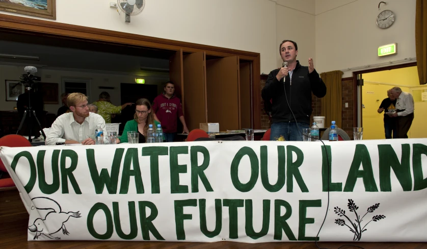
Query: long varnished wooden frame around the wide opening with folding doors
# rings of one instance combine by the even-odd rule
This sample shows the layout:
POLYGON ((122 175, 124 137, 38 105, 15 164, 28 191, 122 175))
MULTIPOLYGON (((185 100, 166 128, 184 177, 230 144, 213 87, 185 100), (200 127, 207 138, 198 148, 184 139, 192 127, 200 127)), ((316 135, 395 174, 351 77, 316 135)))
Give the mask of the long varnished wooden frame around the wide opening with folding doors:
MULTIPOLYGON (((165 49, 169 51, 180 51, 180 49, 182 49, 183 53, 205 52, 206 55, 219 57, 238 56, 240 59, 248 60, 252 64, 252 121, 254 129, 261 128, 261 112, 259 111, 261 110, 261 62, 259 53, 6 14, 0 14, 0 32, 1 31, 109 43, 113 45, 131 45, 141 48, 165 49)), ((257 34, 254 33, 253 35, 256 36, 257 34)))

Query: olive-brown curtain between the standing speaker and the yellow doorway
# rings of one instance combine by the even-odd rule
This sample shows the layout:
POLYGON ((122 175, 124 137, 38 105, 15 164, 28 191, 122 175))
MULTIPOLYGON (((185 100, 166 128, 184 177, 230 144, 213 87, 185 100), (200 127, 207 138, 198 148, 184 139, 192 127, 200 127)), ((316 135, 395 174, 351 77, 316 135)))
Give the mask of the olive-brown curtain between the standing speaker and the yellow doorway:
POLYGON ((321 73, 321 78, 326 85, 326 95, 321 98, 321 115, 325 116, 325 128, 335 121, 338 128, 342 124, 342 71, 321 73))

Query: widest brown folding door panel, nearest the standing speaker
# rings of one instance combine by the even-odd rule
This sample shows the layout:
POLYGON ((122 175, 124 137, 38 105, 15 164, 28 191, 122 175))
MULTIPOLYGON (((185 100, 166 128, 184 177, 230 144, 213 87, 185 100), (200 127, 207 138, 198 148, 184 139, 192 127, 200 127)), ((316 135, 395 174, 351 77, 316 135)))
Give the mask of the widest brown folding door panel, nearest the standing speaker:
POLYGON ((241 127, 238 64, 237 56, 206 61, 207 121, 221 131, 241 127))

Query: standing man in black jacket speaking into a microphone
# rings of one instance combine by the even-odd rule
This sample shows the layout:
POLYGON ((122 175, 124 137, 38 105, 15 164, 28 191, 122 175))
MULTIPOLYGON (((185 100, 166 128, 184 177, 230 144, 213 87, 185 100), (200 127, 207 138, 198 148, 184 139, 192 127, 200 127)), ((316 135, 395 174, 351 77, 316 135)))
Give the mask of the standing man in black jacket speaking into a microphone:
POLYGON ((295 41, 282 41, 279 53, 283 66, 270 72, 261 92, 264 102, 273 102, 270 140, 283 136, 286 141, 302 141, 298 129, 310 127, 311 92, 324 97, 326 85, 314 69, 312 58, 308 59, 308 67, 300 65, 295 41))

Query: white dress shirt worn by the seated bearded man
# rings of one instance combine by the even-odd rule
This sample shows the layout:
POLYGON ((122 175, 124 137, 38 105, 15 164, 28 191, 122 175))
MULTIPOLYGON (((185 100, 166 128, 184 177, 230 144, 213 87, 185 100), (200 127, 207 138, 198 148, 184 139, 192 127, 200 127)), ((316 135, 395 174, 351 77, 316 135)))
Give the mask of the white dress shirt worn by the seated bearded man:
POLYGON ((106 133, 105 120, 98 114, 90 112, 89 117, 79 124, 75 121, 72 112, 64 113, 52 123, 45 144, 55 145, 57 142, 65 142, 65 140, 75 140, 81 143, 89 137, 95 139, 95 129, 98 126, 106 133))

